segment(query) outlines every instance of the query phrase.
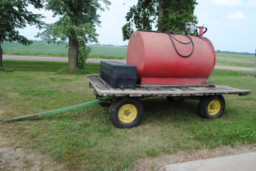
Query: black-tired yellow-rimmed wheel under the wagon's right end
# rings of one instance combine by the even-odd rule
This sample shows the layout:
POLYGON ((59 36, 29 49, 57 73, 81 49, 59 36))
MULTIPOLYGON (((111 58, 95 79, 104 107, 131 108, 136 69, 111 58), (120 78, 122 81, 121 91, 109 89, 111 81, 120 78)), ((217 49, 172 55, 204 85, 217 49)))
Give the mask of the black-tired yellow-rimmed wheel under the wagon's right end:
POLYGON ((222 95, 204 96, 199 101, 198 112, 202 118, 218 118, 222 116, 225 105, 225 99, 222 95))

